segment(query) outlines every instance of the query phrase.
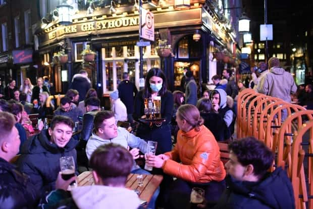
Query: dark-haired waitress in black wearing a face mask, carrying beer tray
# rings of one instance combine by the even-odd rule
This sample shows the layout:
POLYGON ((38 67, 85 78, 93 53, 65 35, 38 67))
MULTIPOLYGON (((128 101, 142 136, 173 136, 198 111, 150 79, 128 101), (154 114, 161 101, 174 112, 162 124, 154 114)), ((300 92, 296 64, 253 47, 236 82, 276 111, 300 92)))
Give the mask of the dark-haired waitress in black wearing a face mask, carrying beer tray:
POLYGON ((166 77, 159 68, 151 68, 146 76, 144 89, 135 98, 134 119, 138 120, 144 115, 144 98, 161 97, 161 117, 166 118, 162 124, 140 123, 137 136, 158 142, 156 154, 172 150, 170 122, 173 111, 173 95, 167 90, 166 77))

